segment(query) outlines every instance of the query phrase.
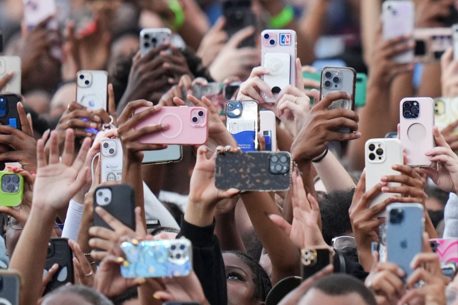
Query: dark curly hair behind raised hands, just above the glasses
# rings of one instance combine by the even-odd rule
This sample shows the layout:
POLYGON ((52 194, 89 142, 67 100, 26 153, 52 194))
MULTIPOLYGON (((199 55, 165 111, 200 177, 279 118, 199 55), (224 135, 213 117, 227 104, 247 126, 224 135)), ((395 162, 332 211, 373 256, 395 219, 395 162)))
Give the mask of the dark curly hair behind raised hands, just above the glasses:
POLYGON ((355 189, 334 190, 323 194, 319 201, 323 237, 328 245, 332 238, 352 230, 348 210, 354 193, 355 189))

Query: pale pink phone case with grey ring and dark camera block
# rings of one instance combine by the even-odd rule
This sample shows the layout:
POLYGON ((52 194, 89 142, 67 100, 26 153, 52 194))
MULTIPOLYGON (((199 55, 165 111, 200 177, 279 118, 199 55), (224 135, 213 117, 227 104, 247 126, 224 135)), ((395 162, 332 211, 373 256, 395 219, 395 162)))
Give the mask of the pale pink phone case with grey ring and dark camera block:
POLYGON ((425 156, 434 147, 434 101, 432 98, 405 98, 399 103, 399 138, 406 149, 407 165, 431 167, 425 156))

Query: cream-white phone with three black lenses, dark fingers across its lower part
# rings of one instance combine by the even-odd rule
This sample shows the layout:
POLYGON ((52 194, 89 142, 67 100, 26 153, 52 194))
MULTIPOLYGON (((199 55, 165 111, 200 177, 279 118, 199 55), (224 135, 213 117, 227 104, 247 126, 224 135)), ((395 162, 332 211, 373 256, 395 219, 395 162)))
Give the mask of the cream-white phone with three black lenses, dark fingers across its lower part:
MULTIPOLYGON (((380 178, 387 175, 399 175, 391 168, 394 164, 404 164, 403 145, 398 139, 369 139, 364 145, 366 170, 366 192, 381 182, 380 178)), ((400 187, 397 182, 389 182, 389 187, 400 187)), ((388 199, 393 193, 380 193, 370 203, 370 207, 388 199)), ((377 217, 386 217, 385 211, 377 217)))

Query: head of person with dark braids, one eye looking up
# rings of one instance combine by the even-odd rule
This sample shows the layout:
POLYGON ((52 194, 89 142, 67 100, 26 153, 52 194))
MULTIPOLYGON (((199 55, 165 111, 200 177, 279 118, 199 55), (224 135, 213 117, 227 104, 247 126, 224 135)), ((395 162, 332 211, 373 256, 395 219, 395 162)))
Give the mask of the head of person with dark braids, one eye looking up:
POLYGON ((272 288, 269 276, 259 263, 243 252, 223 253, 228 305, 262 304, 272 288))

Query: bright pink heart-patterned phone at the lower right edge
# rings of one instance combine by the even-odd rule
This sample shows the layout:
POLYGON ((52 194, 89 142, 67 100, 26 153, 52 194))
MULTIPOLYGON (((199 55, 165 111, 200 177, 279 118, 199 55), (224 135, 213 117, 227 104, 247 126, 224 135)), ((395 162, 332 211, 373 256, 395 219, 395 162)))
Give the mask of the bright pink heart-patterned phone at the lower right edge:
POLYGON ((430 245, 439 257, 442 274, 453 279, 458 264, 458 238, 431 238, 430 245))

